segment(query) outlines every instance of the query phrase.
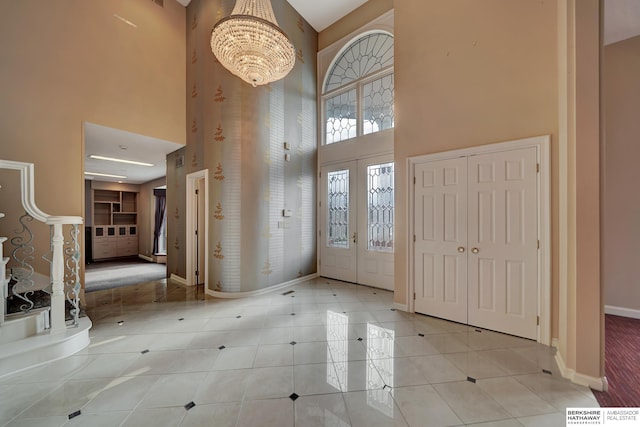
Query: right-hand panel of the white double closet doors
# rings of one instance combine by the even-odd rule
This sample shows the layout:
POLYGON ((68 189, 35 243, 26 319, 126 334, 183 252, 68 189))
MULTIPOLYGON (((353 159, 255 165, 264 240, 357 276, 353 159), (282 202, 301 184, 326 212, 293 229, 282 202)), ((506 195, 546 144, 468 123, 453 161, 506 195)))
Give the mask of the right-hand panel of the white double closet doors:
POLYGON ((469 157, 469 323, 537 337, 536 149, 469 157))

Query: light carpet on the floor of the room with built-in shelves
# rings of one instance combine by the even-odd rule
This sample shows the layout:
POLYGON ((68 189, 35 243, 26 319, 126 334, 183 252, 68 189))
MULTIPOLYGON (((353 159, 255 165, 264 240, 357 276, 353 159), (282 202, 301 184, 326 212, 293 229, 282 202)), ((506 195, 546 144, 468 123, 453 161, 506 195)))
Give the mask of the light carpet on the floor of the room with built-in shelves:
POLYGON ((85 292, 152 282, 167 277, 167 266, 141 260, 90 264, 85 270, 85 292))

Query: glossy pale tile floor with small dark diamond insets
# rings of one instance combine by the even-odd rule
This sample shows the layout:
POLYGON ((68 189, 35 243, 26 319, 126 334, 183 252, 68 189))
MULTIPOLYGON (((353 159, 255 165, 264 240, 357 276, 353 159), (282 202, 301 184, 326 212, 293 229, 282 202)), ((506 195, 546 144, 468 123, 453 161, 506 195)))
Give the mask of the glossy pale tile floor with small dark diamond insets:
POLYGON ((289 290, 87 294, 90 346, 0 379, 0 426, 547 427, 598 406, 560 377, 552 348, 394 311, 373 288, 289 290))

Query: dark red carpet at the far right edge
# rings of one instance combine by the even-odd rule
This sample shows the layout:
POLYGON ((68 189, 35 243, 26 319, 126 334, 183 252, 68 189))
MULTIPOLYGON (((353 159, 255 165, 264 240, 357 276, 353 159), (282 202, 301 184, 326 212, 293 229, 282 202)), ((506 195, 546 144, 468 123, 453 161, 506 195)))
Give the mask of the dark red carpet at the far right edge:
POLYGON ((640 319, 605 315, 607 392, 593 394, 603 407, 640 406, 640 319))

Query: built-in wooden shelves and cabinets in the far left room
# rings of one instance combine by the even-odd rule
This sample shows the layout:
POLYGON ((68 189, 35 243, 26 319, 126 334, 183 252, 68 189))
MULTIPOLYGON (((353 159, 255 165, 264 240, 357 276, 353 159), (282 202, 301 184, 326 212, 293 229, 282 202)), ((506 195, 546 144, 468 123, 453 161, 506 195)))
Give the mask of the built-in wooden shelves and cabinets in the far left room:
POLYGON ((93 259, 138 254, 138 193, 93 189, 93 259))

